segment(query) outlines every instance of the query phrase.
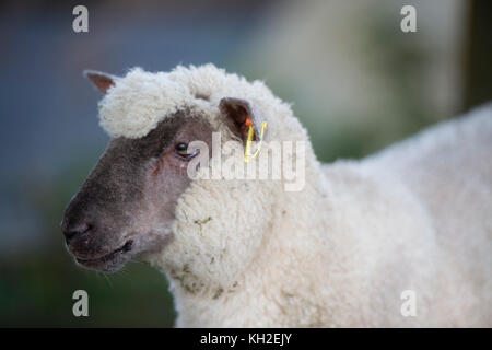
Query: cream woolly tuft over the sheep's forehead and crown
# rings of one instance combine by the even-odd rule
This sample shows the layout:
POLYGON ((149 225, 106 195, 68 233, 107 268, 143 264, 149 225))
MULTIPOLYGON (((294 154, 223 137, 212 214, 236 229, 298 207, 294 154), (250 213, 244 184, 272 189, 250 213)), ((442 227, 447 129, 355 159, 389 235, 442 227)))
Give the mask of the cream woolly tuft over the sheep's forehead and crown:
POLYGON ((113 138, 141 138, 184 108, 199 108, 214 119, 224 96, 250 98, 263 105, 281 103, 261 81, 249 83, 211 63, 178 66, 171 72, 156 73, 133 68, 101 101, 99 124, 113 138))

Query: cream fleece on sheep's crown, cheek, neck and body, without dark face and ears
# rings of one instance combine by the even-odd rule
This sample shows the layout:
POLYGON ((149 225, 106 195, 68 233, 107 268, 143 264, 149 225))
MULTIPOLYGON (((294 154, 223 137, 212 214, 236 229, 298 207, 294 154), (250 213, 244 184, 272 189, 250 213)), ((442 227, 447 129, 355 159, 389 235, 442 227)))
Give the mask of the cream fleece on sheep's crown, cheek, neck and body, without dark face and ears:
MULTIPOLYGON (((213 66, 118 84, 102 105, 115 136, 185 106, 230 139, 218 104, 234 96, 262 109, 269 140, 307 141, 261 82, 213 66)), ((197 179, 180 196, 173 243, 147 257, 169 277, 178 326, 492 326, 492 107, 362 161, 321 165, 307 141, 305 168, 301 191, 197 179), (415 317, 400 313, 406 290, 415 317)))

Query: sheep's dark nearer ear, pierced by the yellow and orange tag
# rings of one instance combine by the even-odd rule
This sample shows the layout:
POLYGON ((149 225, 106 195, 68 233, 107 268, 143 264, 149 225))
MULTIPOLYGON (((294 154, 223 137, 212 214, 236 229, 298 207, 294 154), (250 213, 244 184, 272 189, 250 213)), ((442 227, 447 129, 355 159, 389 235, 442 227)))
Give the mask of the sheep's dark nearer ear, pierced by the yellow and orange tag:
MULTIPOLYGON (((249 122, 248 117, 255 128, 254 140, 260 139, 261 122, 267 121, 261 109, 250 101, 223 97, 219 103, 219 109, 225 117, 225 121, 231 126, 231 129, 238 135, 243 141, 248 137, 249 122)), ((263 135, 265 139, 266 135, 263 135)))

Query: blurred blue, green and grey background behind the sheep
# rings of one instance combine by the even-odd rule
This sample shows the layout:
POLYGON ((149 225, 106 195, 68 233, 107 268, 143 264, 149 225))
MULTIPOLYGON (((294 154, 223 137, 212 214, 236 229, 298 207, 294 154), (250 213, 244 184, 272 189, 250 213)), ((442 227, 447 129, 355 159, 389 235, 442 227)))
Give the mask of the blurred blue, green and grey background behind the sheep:
POLYGON ((163 275, 78 268, 59 229, 103 152, 86 68, 213 62, 292 102, 318 158, 361 158, 492 100, 492 2, 0 2, 0 326, 173 326, 163 275), (74 33, 72 9, 89 9, 74 33), (403 33, 403 5, 417 32, 403 33), (74 290, 90 317, 72 315, 74 290))

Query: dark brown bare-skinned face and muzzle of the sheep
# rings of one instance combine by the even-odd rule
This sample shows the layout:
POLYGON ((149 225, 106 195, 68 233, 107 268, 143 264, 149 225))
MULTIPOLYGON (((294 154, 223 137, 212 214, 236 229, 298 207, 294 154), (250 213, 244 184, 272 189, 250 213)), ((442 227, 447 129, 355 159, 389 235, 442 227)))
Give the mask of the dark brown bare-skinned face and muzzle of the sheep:
POLYGON ((187 144, 211 149, 210 125, 178 113, 140 139, 117 138, 68 205, 61 229, 68 250, 87 268, 115 271, 172 242, 177 199, 189 186, 187 144))

